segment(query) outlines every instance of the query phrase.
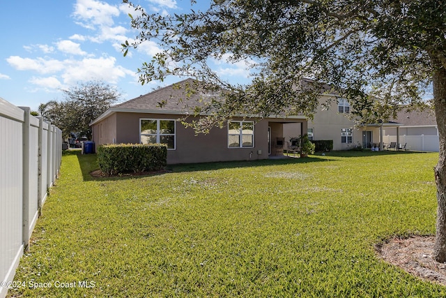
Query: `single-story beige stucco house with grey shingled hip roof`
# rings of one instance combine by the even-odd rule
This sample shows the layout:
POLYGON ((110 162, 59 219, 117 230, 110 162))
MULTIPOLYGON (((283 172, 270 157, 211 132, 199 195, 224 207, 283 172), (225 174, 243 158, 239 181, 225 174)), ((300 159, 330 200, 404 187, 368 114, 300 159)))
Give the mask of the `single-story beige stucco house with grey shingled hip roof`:
POLYGON ((297 124, 293 135, 307 132, 307 118, 302 115, 264 119, 240 115, 228 120, 223 128, 212 128, 208 134, 197 135, 181 121, 197 119, 185 116, 200 105, 200 98, 206 99, 212 94, 197 91, 186 98, 185 85, 193 82, 183 80, 109 108, 91 122, 96 146, 164 143, 168 148, 168 164, 248 161, 282 155, 284 124, 297 124))

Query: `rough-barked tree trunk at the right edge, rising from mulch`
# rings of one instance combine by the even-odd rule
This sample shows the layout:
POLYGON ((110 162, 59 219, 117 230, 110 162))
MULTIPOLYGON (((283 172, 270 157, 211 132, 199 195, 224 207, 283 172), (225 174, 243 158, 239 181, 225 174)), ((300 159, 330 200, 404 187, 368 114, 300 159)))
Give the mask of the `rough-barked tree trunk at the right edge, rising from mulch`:
POLYGON ((434 169, 437 185, 437 223, 433 258, 446 262, 446 70, 442 66, 433 73, 433 98, 440 138, 440 156, 434 169))

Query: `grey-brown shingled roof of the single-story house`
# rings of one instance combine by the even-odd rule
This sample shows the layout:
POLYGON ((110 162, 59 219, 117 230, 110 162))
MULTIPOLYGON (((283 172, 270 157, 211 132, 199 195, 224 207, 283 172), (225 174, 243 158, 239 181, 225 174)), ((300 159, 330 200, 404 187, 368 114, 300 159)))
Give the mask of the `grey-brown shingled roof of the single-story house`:
MULTIPOLYGON (((186 79, 133 98, 125 103, 114 105, 92 121, 90 125, 96 124, 116 112, 187 115, 193 113, 194 108, 201 107, 210 98, 218 98, 218 94, 201 87, 197 80, 186 79)), ((277 117, 284 118, 283 115, 277 117)), ((286 118, 306 119, 303 115, 286 118)))

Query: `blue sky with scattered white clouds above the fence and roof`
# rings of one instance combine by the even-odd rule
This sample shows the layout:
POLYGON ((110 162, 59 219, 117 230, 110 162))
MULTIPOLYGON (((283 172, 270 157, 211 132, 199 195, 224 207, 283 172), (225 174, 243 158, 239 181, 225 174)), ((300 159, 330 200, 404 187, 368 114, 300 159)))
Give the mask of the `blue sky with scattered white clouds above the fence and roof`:
MULTIPOLYGON (((164 14, 191 8, 190 0, 133 2, 164 14)), ((198 2, 201 8, 208 6, 208 1, 198 2)), ((3 1, 0 97, 37 110, 40 103, 63 100, 60 90, 81 82, 102 80, 116 86, 125 101, 181 80, 171 77, 144 86, 137 82, 137 68, 159 48, 146 43, 123 57, 121 43, 137 34, 130 27, 128 13, 130 8, 120 0, 3 1)), ((213 62, 213 69, 225 80, 249 80, 243 62, 213 62)))

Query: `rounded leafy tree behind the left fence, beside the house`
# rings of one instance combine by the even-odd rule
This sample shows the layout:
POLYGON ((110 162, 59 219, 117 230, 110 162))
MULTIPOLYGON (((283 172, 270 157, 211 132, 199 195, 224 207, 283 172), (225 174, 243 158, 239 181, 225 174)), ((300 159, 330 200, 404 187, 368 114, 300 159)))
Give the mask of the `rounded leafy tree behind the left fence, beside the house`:
POLYGON ((121 96, 115 87, 101 81, 82 82, 63 89, 65 100, 55 100, 39 105, 45 120, 52 121, 64 136, 79 133, 91 139, 89 124, 105 112, 121 96))

